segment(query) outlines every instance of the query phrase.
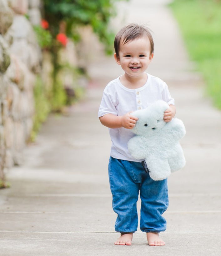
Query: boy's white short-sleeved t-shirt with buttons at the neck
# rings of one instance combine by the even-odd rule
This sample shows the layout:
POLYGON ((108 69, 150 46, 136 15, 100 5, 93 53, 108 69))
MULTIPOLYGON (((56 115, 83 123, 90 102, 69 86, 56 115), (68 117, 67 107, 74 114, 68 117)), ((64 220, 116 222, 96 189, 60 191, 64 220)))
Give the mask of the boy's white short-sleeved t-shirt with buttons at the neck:
MULTIPOLYGON (((100 103, 98 117, 105 114, 122 116, 130 111, 144 109, 157 100, 166 101, 169 105, 174 105, 167 84, 161 79, 147 74, 147 81, 142 87, 128 89, 120 82, 120 77, 112 80, 104 89, 100 103)), ((134 159, 128 151, 127 143, 135 136, 130 129, 109 128, 112 146, 110 155, 117 159, 141 162, 134 159)))

